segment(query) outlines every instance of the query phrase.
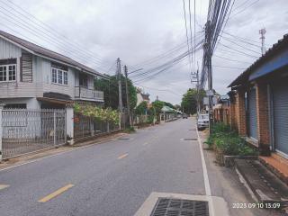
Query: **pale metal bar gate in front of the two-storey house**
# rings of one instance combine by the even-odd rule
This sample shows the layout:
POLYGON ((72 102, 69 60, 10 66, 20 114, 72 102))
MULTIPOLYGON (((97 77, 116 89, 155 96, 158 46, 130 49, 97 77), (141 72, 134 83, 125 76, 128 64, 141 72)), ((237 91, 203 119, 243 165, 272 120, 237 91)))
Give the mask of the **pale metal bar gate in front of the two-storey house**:
POLYGON ((3 110, 3 157, 66 143, 65 110, 3 110))

